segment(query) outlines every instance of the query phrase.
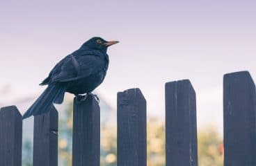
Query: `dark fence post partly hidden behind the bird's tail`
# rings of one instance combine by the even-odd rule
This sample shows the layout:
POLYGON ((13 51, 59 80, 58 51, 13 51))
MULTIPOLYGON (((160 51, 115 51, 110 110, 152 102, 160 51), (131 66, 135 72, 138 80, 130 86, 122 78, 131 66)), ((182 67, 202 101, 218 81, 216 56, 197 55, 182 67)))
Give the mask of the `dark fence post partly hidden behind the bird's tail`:
POLYGON ((33 166, 58 166, 58 111, 34 117, 33 166))

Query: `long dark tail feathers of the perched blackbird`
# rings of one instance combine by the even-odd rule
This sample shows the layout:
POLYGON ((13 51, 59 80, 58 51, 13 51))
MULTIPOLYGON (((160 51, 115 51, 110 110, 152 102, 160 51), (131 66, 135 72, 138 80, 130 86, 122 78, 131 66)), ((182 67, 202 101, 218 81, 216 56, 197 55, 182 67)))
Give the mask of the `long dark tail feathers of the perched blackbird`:
POLYGON ((33 105, 24 113, 23 119, 29 116, 37 116, 42 113, 47 113, 53 103, 61 104, 64 99, 66 86, 63 84, 50 84, 47 89, 40 95, 40 97, 33 103, 33 105))

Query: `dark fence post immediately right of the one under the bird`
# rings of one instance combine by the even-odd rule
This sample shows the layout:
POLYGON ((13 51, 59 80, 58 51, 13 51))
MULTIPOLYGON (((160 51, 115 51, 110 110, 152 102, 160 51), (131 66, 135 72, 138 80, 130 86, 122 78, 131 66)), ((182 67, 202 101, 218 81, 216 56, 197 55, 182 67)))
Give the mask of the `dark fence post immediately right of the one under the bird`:
POLYGON ((147 165, 146 114, 140 89, 118 93, 118 166, 147 165))

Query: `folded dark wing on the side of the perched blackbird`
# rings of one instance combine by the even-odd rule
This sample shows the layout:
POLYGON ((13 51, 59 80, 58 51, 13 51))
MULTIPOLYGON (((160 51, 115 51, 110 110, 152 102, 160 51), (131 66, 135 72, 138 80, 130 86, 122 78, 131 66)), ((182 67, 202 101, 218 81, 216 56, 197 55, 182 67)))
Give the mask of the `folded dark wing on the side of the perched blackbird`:
POLYGON ((52 75, 52 82, 68 82, 78 80, 82 77, 88 77, 104 68, 104 60, 95 54, 70 55, 65 63, 61 66, 61 71, 52 75))

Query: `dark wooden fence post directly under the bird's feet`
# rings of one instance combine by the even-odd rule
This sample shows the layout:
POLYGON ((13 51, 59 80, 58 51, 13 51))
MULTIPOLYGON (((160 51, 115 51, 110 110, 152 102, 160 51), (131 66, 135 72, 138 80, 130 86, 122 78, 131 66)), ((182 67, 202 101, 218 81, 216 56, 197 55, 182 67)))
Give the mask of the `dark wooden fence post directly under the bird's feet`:
POLYGON ((74 98, 72 165, 99 166, 100 113, 95 97, 74 98))

